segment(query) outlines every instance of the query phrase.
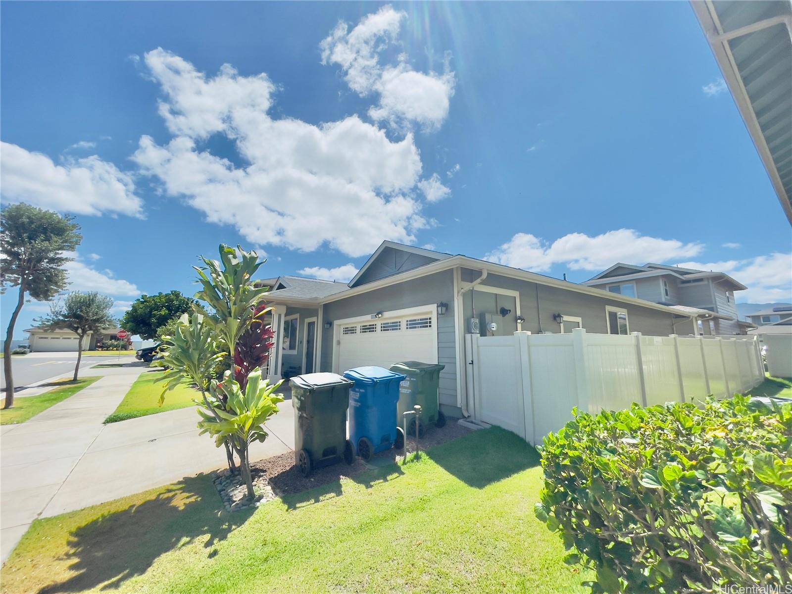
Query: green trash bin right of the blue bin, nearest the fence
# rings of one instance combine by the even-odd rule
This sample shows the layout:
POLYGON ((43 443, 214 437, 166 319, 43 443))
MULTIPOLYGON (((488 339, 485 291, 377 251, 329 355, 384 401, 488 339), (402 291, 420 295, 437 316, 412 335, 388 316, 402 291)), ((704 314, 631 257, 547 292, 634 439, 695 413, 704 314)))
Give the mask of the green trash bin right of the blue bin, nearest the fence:
MULTIPOLYGON (((440 371, 445 365, 421 363, 421 361, 402 361, 390 366, 390 371, 406 375, 399 386, 396 422, 398 427, 404 426, 404 413, 413 406, 421 406, 421 432, 426 425, 433 423, 436 427, 445 425, 445 415, 440 412, 438 389, 440 388, 440 371)), ((409 428, 415 432, 415 426, 409 428)))

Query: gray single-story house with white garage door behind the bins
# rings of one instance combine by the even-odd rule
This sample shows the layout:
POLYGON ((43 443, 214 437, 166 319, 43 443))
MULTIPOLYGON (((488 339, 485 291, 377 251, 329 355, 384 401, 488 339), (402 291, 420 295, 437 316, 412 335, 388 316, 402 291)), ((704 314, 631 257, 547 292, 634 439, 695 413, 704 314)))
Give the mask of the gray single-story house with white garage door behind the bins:
MULTIPOLYGON (((463 255, 383 242, 348 283, 268 280, 276 348, 270 377, 397 361, 444 364, 440 403, 466 412, 465 335, 689 334, 681 311, 463 255)), ((712 313, 712 312, 708 312, 712 313)))

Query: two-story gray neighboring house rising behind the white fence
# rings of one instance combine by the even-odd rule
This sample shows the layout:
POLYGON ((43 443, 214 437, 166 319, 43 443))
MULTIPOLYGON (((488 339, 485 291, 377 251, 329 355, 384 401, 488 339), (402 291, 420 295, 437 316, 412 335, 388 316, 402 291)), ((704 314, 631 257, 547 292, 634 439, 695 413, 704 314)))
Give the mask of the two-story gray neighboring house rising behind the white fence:
POLYGON ((676 307, 689 321, 676 326, 678 334, 741 334, 734 291, 747 287, 723 272, 649 263, 619 262, 583 284, 626 297, 676 307))

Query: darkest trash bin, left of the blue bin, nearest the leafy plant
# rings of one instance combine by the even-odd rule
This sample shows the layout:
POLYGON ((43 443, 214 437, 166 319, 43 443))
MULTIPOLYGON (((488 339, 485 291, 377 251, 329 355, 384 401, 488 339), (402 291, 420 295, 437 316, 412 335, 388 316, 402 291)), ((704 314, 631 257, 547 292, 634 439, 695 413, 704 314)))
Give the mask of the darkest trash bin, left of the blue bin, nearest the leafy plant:
POLYGON ((309 373, 291 378, 291 403, 295 409, 295 463, 303 476, 314 468, 354 462, 346 438, 349 408, 348 379, 335 373, 309 373))

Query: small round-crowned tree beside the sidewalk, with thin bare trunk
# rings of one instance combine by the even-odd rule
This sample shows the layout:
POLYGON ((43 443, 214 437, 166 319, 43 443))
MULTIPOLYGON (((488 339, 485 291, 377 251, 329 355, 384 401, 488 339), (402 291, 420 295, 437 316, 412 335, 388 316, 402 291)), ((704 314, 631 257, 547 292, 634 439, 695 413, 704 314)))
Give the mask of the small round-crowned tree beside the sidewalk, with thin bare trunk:
POLYGON ((112 299, 100 295, 96 291, 69 293, 63 305, 54 303, 50 314, 38 320, 41 325, 51 329, 68 329, 77 334, 79 341, 77 347, 77 364, 74 366, 74 381, 80 371, 82 360, 82 342, 89 332, 100 332, 102 329, 116 325, 116 320, 110 314, 112 299))

